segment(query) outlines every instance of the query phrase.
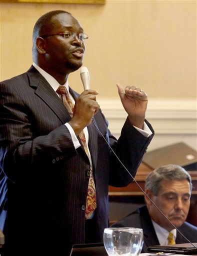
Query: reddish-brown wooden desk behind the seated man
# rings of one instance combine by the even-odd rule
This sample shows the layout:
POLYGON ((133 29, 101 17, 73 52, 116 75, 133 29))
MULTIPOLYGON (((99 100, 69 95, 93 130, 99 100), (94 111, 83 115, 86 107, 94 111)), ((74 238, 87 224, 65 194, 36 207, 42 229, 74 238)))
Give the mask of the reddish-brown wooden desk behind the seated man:
MULTIPOLYGON (((144 189, 144 180, 148 173, 152 171, 147 165, 143 162, 139 165, 137 173, 135 175, 135 180, 133 180, 130 184, 125 187, 113 187, 109 186, 109 202, 110 201, 123 201, 123 202, 136 202, 143 203, 143 191, 140 189, 144 189), (138 185, 140 186, 138 186, 138 185)), ((191 192, 191 201, 190 208, 187 216, 187 221, 193 225, 197 226, 197 170, 190 170, 188 173, 191 175, 193 189, 191 192)), ((111 220, 110 222, 114 222, 117 219, 111 220)))

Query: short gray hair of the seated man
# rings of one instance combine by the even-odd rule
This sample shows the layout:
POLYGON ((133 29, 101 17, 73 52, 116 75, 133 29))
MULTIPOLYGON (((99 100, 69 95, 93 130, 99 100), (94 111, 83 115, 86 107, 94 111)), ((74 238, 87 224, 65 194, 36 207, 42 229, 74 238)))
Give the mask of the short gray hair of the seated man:
POLYGON ((190 192, 192 190, 191 176, 181 166, 176 164, 167 164, 154 169, 149 173, 145 179, 145 189, 157 195, 157 192, 161 186, 162 180, 183 180, 187 179, 190 186, 190 192))

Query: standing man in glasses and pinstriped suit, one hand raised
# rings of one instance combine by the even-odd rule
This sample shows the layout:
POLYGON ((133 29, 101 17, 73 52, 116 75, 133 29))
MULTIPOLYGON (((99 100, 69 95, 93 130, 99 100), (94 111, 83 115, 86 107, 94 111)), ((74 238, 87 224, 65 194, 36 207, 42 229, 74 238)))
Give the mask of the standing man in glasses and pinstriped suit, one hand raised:
POLYGON ((0 83, 3 255, 66 256, 72 244, 101 242, 108 185, 132 181, 120 161, 135 176, 152 139, 142 89, 117 84, 127 118, 116 139, 98 92, 68 85, 87 38, 70 13, 45 13, 33 28, 32 66, 0 83))

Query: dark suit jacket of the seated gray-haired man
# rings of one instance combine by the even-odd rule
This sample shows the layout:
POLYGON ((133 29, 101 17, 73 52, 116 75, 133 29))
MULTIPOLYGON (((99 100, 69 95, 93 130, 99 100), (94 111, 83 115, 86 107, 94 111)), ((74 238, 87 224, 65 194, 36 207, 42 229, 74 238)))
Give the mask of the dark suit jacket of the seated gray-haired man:
MULTIPOLYGON (((112 227, 138 227, 143 229, 143 248, 141 253, 147 252, 146 248, 151 245, 159 245, 152 221, 150 219, 147 207, 144 205, 131 212, 129 215, 120 219, 111 225, 112 227)), ((197 227, 184 222, 179 228, 180 232, 190 241, 196 242, 197 240, 197 227)), ((188 243, 182 235, 176 232, 176 243, 188 243)))

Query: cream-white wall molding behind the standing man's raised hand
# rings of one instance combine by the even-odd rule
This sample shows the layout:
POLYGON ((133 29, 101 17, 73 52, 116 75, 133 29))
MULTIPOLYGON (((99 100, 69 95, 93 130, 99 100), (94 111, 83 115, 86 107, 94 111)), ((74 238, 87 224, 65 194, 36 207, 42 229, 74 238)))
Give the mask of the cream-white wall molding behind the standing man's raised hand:
MULTIPOLYGON (((109 121, 109 129, 118 137, 127 116, 120 100, 99 99, 98 102, 109 121)), ((153 147, 160 147, 163 142, 183 141, 196 149, 196 100, 149 99, 146 119, 155 131, 153 147), (159 136, 162 139, 158 140, 159 136)))

